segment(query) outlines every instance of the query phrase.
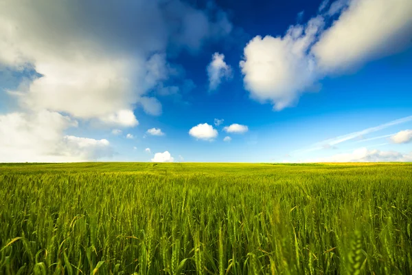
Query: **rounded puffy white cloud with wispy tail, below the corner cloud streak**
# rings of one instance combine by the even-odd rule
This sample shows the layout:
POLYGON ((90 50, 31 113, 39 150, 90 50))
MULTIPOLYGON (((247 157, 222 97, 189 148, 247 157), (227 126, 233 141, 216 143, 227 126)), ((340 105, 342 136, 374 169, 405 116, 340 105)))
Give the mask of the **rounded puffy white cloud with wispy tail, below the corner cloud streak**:
POLYGON ((306 28, 290 27, 284 37, 256 36, 249 41, 240 67, 251 97, 282 110, 310 88, 317 78, 316 61, 306 52, 321 28, 323 18, 315 17, 306 28))

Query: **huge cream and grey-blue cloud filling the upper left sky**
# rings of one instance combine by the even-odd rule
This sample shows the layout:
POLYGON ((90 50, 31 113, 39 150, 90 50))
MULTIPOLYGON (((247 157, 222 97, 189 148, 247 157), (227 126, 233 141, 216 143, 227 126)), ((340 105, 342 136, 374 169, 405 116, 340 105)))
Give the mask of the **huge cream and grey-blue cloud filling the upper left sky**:
POLYGON ((231 31, 225 13, 213 20, 208 14, 180 0, 5 0, 0 65, 19 71, 28 64, 42 75, 14 91, 27 109, 100 119, 132 113, 141 102, 158 115, 159 102, 142 96, 174 74, 159 52, 198 50, 206 39, 231 31))

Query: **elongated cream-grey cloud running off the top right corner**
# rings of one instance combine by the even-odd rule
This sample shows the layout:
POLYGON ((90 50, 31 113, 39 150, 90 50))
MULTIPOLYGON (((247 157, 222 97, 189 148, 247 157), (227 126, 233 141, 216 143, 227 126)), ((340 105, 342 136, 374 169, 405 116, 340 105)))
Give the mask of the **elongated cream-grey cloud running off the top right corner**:
POLYGON ((312 47, 312 53, 326 72, 351 68, 392 54, 411 39, 411 14, 409 0, 350 1, 339 20, 325 30, 312 47))

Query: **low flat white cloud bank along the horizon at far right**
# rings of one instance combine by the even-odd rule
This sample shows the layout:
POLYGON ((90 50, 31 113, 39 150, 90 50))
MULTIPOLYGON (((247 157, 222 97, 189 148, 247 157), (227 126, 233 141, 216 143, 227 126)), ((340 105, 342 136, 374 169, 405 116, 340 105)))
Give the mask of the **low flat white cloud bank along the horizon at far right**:
POLYGON ((358 148, 351 153, 341 153, 330 157, 308 159, 306 162, 411 162, 412 153, 404 154, 396 151, 379 151, 358 148))

